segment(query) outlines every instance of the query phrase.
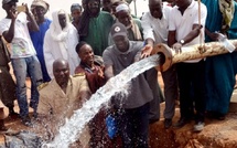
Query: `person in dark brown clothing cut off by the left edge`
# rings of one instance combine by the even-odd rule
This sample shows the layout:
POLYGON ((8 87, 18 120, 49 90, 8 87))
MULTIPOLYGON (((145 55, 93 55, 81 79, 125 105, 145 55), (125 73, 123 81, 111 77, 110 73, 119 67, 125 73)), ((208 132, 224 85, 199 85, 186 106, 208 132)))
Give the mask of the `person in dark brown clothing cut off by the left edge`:
POLYGON ((0 36, 0 98, 9 108, 9 116, 15 117, 14 99, 17 99, 15 83, 10 74, 10 53, 4 45, 2 36, 0 36))

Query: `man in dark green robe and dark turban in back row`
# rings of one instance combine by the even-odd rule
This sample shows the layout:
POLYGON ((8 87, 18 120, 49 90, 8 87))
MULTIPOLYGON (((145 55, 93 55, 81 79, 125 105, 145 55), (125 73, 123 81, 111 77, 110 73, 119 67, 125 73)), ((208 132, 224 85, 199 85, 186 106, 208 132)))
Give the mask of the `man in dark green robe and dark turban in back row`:
POLYGON ((103 55, 108 46, 109 29, 112 25, 112 17, 100 11, 100 0, 86 0, 86 9, 79 22, 79 36, 94 50, 95 55, 103 55))

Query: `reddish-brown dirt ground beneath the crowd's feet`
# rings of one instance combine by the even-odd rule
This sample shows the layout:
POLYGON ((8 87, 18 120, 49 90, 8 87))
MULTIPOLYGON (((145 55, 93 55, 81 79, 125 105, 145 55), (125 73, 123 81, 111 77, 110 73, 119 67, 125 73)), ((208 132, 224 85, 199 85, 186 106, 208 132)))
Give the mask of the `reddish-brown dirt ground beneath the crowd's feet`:
MULTIPOLYGON (((163 89, 163 82, 159 74, 159 83, 163 89)), ((30 82, 26 83, 30 88, 30 82)), ((30 89, 28 88, 28 94, 30 89)), ((237 91, 234 93, 237 98, 237 91)), ((19 110, 15 102, 15 110, 19 110)), ((190 123, 181 129, 164 129, 163 127, 163 110, 164 103, 161 104, 161 119, 150 125, 150 148, 237 148, 237 103, 230 104, 230 112, 225 120, 205 120, 205 127, 202 133, 194 134, 192 128, 194 123, 190 123)), ((6 115, 8 109, 4 108, 6 115)), ((32 113, 32 109, 30 109, 32 113)), ((175 109, 173 123, 180 117, 179 106, 175 109)), ((25 127, 21 124, 20 119, 6 118, 6 126, 9 130, 34 130, 33 128, 25 127)), ((0 134, 0 142, 3 142, 3 134, 0 134)), ((105 146, 106 148, 106 146, 105 146)))

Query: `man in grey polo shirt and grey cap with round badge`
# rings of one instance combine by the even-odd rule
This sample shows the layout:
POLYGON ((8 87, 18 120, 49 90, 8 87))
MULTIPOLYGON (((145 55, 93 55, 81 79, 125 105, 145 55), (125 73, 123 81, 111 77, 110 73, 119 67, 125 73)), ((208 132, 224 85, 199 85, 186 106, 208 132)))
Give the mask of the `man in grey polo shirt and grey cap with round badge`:
MULTIPOLYGON (((115 44, 107 47, 103 54, 105 76, 108 80, 137 61, 143 47, 142 42, 129 41, 127 29, 121 23, 111 27, 111 36, 115 44)), ((126 98, 115 96, 114 105, 120 110, 118 123, 125 148, 148 148, 149 102, 152 98, 143 74, 131 81, 126 98)))

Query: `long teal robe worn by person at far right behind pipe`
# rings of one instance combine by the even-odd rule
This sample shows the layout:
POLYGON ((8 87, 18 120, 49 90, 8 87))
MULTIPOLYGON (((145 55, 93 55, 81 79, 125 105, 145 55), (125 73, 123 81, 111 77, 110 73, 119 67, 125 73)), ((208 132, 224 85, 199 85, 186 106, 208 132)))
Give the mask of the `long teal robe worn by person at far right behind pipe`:
MULTIPOLYGON (((219 11, 218 0, 202 0, 202 2, 207 7, 206 29, 211 32, 220 31, 223 17, 219 11)), ((234 28, 236 25, 235 23, 237 22, 234 20, 230 28, 234 28)), ((230 29, 230 31, 233 30, 230 29)), ((233 39, 236 35, 231 33, 229 38, 233 39)), ((206 36, 206 42, 211 42, 208 36, 206 36)), ((228 112, 236 75, 236 68, 234 67, 236 67, 235 63, 237 61, 234 61, 234 54, 236 53, 227 53, 206 59, 206 110, 218 112, 220 114, 228 112)))

